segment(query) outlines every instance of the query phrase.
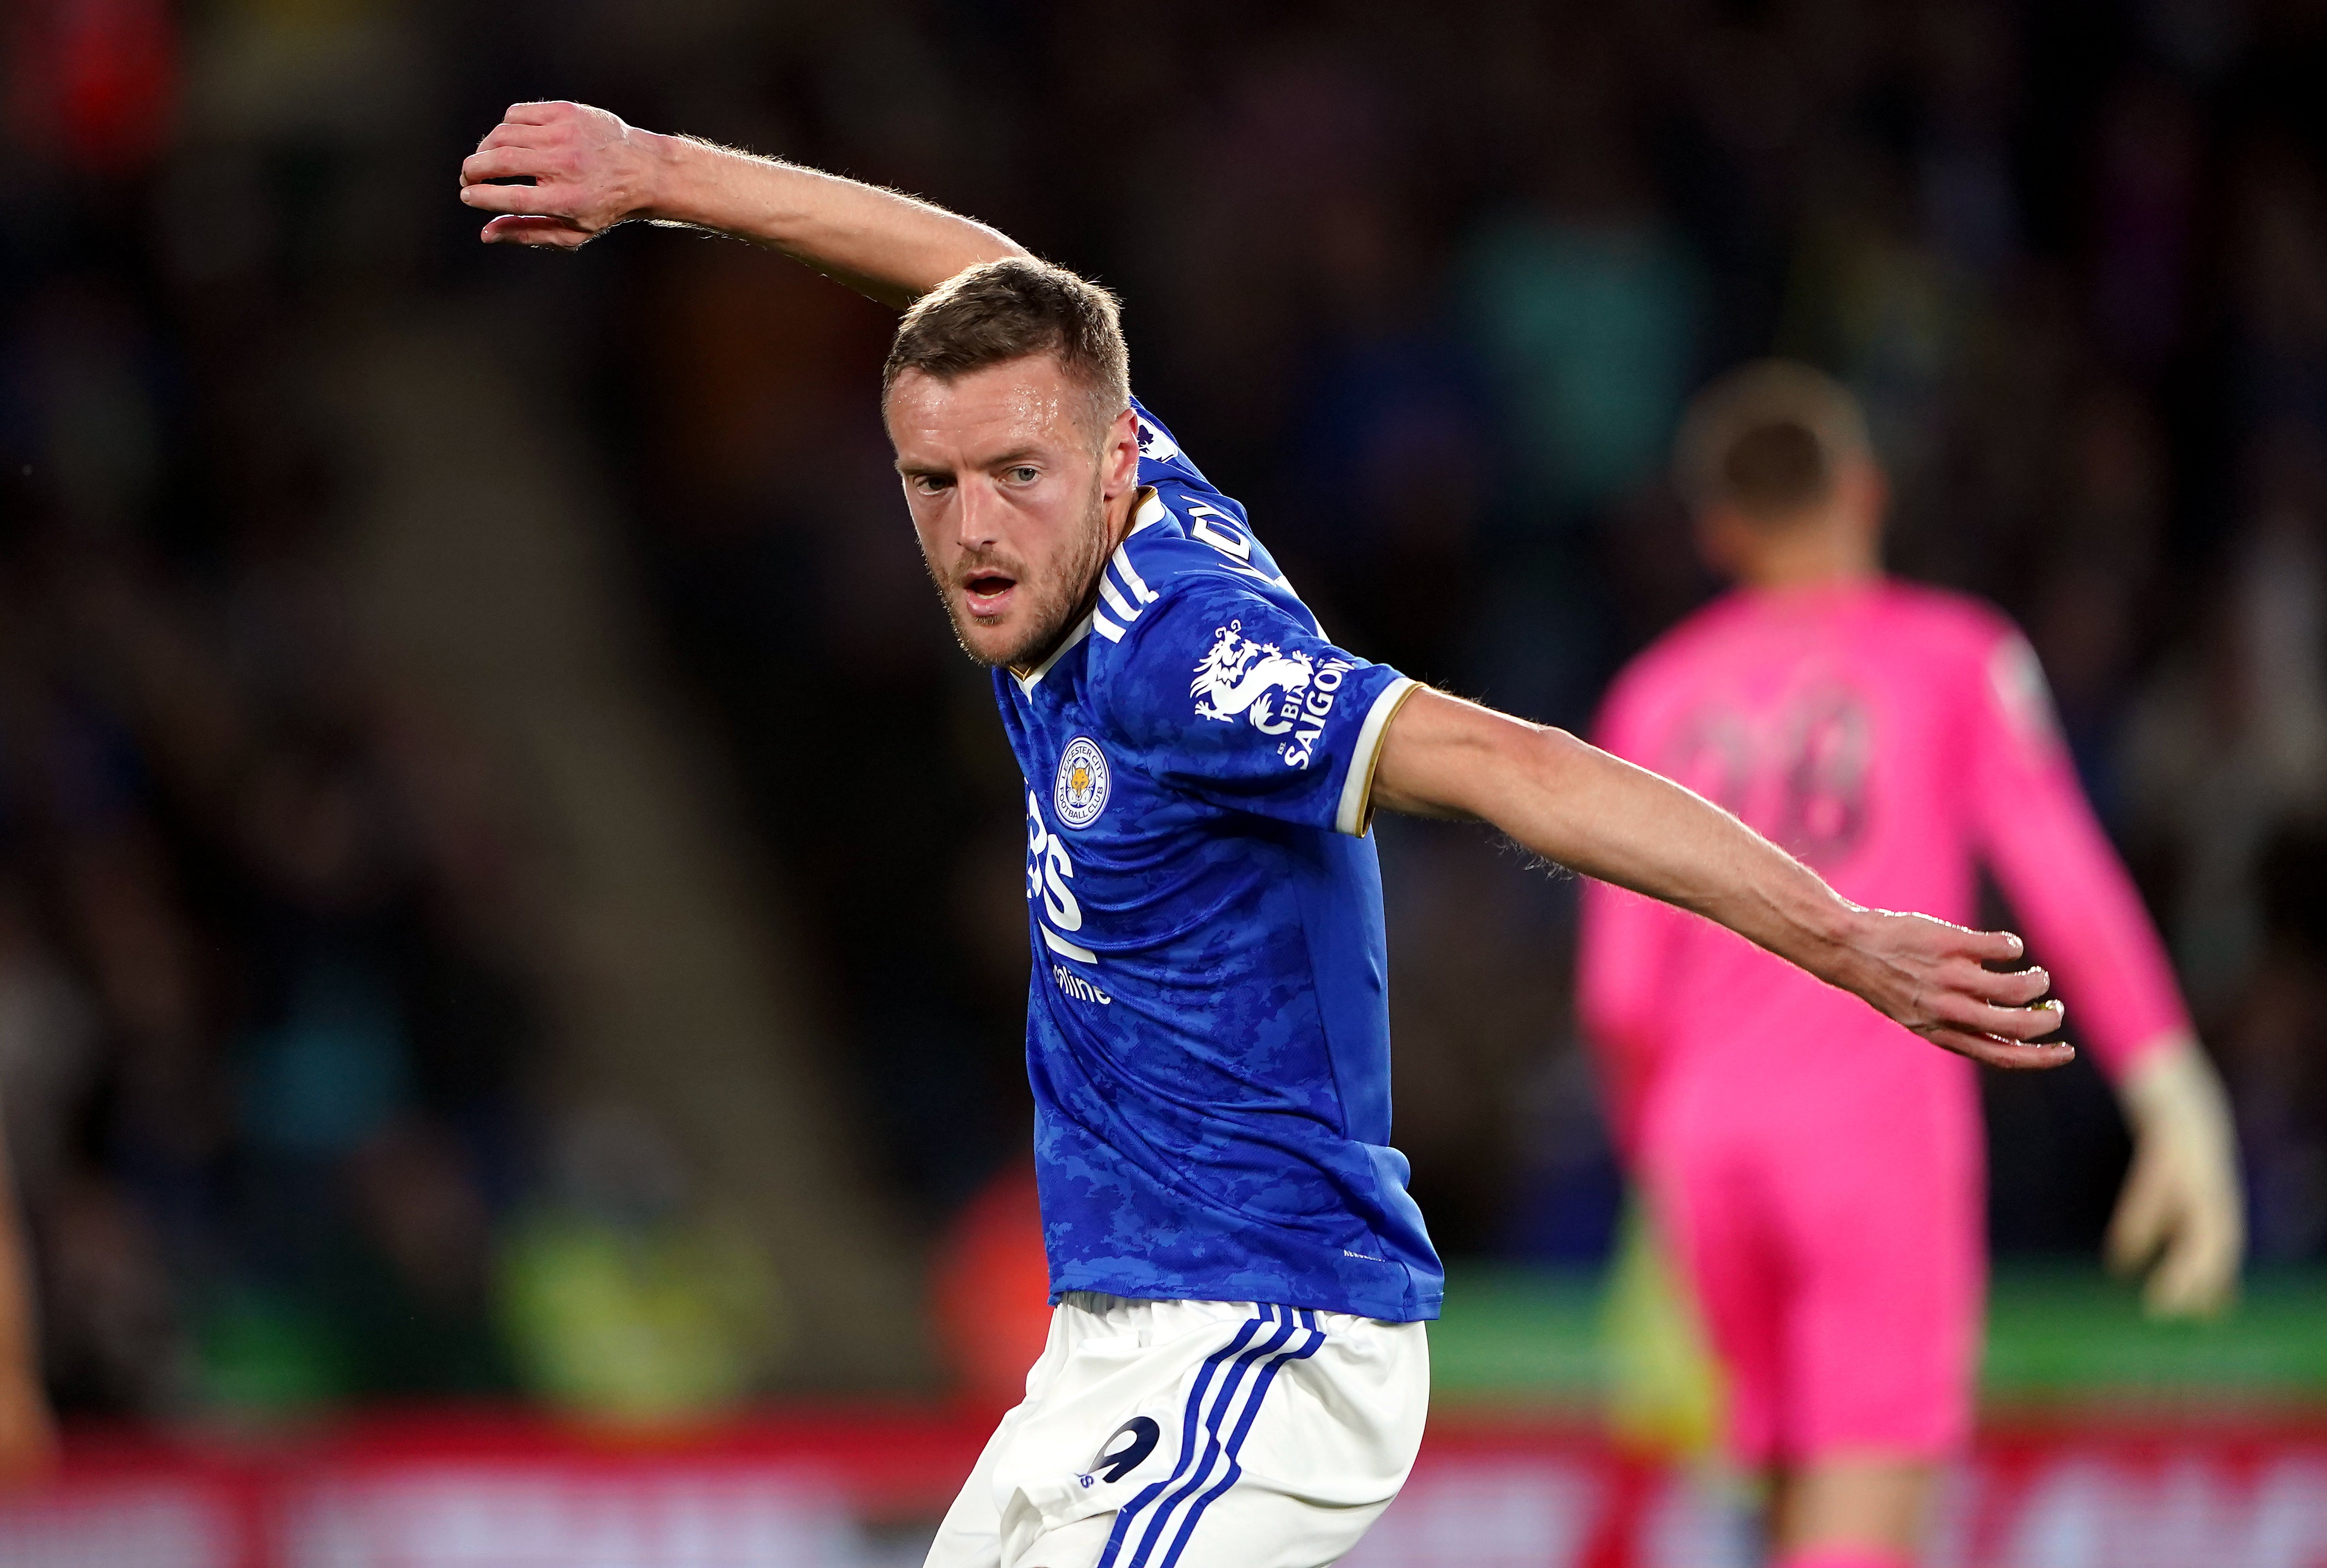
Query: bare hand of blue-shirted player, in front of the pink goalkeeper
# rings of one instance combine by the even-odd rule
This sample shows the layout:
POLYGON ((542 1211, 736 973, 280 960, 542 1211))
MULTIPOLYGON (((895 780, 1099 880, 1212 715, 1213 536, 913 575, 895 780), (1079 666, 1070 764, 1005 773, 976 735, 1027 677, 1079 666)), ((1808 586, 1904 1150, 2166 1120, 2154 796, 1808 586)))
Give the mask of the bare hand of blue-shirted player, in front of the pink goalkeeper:
POLYGON ((2018 963, 2024 947, 2011 931, 1969 931, 1929 914, 1862 910, 1850 935, 1855 963, 1845 984, 1931 1045, 1990 1068, 2057 1068, 2076 1047, 2043 1040, 2064 1007, 2043 1000, 2052 977, 2018 963))

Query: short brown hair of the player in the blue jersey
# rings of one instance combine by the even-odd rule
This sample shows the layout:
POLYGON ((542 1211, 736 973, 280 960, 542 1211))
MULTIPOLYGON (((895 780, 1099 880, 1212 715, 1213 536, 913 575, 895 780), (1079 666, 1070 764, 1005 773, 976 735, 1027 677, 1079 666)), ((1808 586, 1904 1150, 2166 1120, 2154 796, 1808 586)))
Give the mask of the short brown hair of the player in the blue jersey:
POLYGON ((889 344, 882 405, 908 370, 952 382, 1029 354, 1054 354, 1089 391, 1098 430, 1131 407, 1122 305, 1098 284, 1031 256, 966 268, 915 300, 889 344))

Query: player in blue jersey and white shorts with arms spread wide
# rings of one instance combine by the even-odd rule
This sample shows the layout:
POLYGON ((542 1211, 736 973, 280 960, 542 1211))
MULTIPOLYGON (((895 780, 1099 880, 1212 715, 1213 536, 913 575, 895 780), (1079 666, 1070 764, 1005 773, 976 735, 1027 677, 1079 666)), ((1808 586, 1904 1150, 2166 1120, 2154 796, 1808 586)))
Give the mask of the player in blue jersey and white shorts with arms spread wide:
POLYGON ((1056 1298, 933 1566, 1331 1563, 1403 1484, 1443 1275, 1389 1147, 1378 805, 1489 821, 1978 1061, 2071 1056, 2036 1042, 2048 977, 1985 968, 2018 938, 1862 910, 1701 798, 1336 647, 1131 400, 1115 298, 991 228, 561 102, 512 107, 461 200, 489 242, 689 223, 905 309, 905 509, 1026 777, 1056 1298))

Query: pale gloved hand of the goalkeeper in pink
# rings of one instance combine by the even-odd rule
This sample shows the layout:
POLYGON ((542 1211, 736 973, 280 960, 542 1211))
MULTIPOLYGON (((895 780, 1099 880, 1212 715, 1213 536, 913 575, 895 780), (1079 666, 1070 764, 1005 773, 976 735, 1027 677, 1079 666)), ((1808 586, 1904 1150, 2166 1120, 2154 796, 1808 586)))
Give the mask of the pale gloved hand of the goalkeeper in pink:
POLYGON ((2197 1040, 2155 1047, 2118 1084, 2134 1131, 2134 1166, 2108 1221, 2108 1266, 2148 1270, 2143 1305, 2157 1317, 2211 1317, 2239 1289, 2246 1200, 2239 1142, 2222 1084, 2197 1040))

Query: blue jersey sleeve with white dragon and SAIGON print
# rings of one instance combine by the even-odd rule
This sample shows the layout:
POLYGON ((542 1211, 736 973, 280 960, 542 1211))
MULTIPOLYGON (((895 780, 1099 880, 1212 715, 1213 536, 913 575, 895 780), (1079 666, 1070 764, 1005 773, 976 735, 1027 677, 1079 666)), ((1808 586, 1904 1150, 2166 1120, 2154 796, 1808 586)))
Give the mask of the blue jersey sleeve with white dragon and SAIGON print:
POLYGON ((1364 835, 1373 768, 1415 682, 1259 591, 1168 593, 1098 691, 1126 761, 1212 805, 1364 835))

